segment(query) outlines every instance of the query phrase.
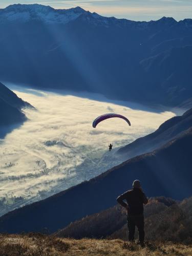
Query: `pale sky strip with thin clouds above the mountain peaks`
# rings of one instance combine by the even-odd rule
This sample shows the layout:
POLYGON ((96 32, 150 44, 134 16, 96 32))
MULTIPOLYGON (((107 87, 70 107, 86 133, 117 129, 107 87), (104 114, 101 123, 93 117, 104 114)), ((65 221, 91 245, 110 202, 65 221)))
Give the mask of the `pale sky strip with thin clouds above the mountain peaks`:
POLYGON ((55 9, 80 6, 103 16, 132 20, 157 20, 162 16, 176 20, 191 18, 192 0, 0 0, 0 8, 11 4, 43 4, 55 9))

